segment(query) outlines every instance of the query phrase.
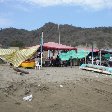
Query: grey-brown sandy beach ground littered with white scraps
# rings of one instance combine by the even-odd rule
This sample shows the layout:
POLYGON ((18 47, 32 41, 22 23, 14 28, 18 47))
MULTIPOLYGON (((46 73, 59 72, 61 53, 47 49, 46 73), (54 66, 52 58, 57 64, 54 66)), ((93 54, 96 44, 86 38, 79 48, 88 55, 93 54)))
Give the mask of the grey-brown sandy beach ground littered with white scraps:
POLYGON ((79 67, 24 70, 30 74, 0 65, 0 112, 112 112, 112 76, 79 67))

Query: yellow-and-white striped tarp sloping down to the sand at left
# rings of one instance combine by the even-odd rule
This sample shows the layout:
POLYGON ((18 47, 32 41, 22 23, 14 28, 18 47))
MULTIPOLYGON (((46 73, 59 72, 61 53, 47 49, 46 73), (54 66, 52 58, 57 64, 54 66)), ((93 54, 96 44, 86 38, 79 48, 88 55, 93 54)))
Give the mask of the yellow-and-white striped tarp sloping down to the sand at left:
POLYGON ((3 49, 0 49, 0 57, 5 61, 12 63, 15 67, 20 66, 20 64, 31 58, 32 55, 39 49, 40 45, 33 46, 27 49, 15 50, 7 49, 3 52, 3 49))

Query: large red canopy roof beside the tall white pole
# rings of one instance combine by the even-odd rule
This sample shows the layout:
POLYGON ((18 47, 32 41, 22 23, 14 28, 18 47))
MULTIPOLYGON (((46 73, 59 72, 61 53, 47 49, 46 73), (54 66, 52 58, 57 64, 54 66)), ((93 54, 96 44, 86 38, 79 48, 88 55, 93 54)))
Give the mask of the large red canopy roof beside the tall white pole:
POLYGON ((43 48, 45 50, 77 50, 75 47, 70 47, 55 42, 44 43, 43 48))

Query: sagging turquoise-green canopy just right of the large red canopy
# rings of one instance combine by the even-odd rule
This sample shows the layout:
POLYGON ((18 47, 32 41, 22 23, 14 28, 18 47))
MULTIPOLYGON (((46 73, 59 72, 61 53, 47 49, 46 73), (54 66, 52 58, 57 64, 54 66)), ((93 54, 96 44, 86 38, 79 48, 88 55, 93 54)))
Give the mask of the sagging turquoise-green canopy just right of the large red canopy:
POLYGON ((82 59, 86 57, 89 53, 90 51, 87 50, 77 50, 77 52, 75 50, 71 50, 68 51, 67 53, 61 53, 59 57, 61 60, 69 60, 70 57, 72 57, 73 59, 74 58, 82 59))

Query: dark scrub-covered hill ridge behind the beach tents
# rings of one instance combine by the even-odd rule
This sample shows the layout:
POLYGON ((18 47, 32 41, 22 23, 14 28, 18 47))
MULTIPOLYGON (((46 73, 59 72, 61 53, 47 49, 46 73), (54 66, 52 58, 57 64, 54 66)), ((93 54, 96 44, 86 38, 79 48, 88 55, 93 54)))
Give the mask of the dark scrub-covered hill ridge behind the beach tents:
POLYGON ((112 47, 112 27, 81 28, 72 25, 46 23, 43 27, 27 31, 24 29, 6 28, 0 30, 0 44, 7 46, 32 46, 40 43, 41 32, 44 32, 44 42, 58 42, 59 31, 61 43, 71 46, 90 46, 97 48, 112 47))

